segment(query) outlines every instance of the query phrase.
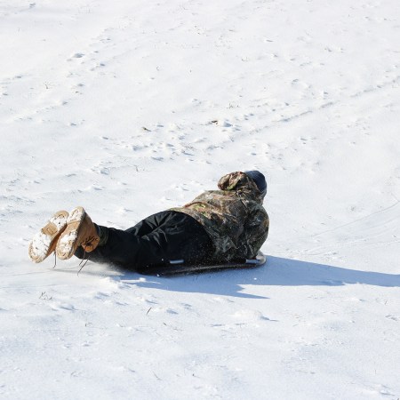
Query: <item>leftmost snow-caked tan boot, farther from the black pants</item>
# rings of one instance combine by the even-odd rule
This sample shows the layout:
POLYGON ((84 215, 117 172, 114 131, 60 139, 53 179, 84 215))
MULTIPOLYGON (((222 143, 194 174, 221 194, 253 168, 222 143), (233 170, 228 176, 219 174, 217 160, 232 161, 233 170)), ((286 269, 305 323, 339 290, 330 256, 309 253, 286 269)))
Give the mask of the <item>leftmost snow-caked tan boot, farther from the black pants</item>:
POLYGON ((42 262, 54 252, 61 233, 67 227, 68 215, 66 211, 55 212, 40 232, 36 233, 28 248, 30 260, 42 262))

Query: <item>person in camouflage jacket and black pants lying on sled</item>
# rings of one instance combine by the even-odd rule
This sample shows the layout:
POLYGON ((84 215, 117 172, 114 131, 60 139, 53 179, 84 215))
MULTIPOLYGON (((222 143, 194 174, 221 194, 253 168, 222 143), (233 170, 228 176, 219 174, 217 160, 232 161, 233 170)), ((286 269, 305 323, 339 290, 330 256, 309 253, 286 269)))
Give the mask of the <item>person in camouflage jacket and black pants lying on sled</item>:
POLYGON ((52 252, 139 269, 184 260, 212 265, 255 258, 268 236, 262 206, 267 182, 259 171, 223 176, 220 190, 206 191, 191 203, 158 212, 132 228, 107 228, 92 222, 83 207, 56 212, 29 244, 29 257, 41 262, 52 252))

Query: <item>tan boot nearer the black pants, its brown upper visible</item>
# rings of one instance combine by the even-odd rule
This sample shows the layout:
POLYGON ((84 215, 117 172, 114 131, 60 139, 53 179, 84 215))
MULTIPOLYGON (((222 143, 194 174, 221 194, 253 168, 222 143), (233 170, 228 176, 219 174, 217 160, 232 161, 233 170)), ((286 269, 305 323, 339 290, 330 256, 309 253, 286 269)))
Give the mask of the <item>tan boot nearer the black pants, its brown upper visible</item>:
POLYGON ((92 252, 99 242, 100 237, 91 218, 83 207, 76 207, 69 213, 67 228, 57 242, 56 255, 60 260, 68 260, 78 246, 82 246, 85 252, 92 252))

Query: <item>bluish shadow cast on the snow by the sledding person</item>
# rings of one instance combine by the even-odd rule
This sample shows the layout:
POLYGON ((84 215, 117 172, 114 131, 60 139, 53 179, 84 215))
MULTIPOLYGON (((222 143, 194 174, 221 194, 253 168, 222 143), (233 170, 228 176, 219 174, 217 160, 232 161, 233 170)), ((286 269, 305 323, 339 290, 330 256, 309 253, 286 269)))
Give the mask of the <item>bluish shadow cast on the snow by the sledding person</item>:
POLYGON ((265 286, 263 292, 266 293, 268 293, 270 285, 370 284, 372 286, 400 287, 400 275, 332 267, 272 256, 268 256, 267 264, 260 268, 224 269, 185 276, 146 276, 139 280, 137 273, 122 271, 122 274, 115 278, 124 284, 173 292, 202 292, 252 299, 268 299, 268 297, 250 294, 251 289, 244 288, 244 286, 265 286))

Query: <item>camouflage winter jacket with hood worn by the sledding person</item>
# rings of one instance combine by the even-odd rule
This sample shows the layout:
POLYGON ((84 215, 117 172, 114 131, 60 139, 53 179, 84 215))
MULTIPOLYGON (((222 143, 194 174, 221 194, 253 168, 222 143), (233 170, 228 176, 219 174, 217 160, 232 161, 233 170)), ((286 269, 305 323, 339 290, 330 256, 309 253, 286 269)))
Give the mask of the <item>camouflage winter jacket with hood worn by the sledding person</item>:
POLYGON ((216 260, 255 257, 269 228, 259 188, 244 172, 223 176, 218 188, 173 210, 184 212, 203 225, 212 238, 216 260))

